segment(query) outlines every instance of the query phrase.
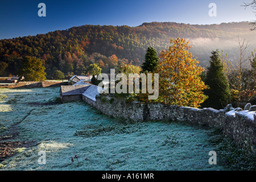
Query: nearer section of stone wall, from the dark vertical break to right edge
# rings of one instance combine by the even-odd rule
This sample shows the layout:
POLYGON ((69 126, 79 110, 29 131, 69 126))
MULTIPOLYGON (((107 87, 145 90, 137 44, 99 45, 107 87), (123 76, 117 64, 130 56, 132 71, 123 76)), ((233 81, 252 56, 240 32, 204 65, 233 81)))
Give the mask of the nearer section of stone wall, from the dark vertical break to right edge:
POLYGON ((148 120, 184 121, 192 125, 204 125, 222 130, 225 137, 232 138, 243 148, 256 151, 256 113, 250 119, 237 112, 230 115, 225 110, 212 108, 196 109, 192 107, 148 104, 148 120))

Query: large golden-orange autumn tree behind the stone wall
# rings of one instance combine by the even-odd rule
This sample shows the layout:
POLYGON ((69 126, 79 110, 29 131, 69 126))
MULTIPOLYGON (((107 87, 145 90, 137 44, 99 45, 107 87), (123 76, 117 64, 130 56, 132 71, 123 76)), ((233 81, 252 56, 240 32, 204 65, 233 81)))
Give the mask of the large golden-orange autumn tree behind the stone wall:
POLYGON ((207 86, 200 78, 204 71, 188 51, 185 39, 171 39, 171 46, 160 53, 159 100, 171 105, 199 107, 207 96, 207 86))

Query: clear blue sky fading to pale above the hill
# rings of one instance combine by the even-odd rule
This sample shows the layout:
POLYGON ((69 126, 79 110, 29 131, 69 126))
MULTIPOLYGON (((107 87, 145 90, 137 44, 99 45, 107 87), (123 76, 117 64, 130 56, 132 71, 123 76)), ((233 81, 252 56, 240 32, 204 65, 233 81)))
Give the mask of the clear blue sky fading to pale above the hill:
POLYGON ((256 19, 252 0, 28 0, 0 1, 0 39, 45 34, 84 24, 139 26, 144 22, 219 24, 256 19), (46 17, 38 16, 38 4, 46 4, 46 17), (216 3, 217 16, 210 17, 209 3, 216 3))

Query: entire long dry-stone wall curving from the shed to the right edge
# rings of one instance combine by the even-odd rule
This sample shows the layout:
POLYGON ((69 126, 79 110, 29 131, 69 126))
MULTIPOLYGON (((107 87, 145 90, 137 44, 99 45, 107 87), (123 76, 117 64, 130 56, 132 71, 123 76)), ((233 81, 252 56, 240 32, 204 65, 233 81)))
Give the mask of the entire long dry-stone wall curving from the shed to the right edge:
MULTIPOLYGON (((222 130, 225 137, 232 138, 246 150, 256 152, 256 113, 254 118, 246 115, 228 114, 227 110, 212 108, 196 109, 193 107, 179 107, 164 104, 141 104, 140 102, 126 103, 114 100, 110 104, 108 96, 96 97, 96 102, 82 96, 82 100, 96 107, 102 113, 130 119, 131 121, 184 121, 192 125, 204 125, 222 130)), ((254 114, 255 113, 255 114, 254 114)))

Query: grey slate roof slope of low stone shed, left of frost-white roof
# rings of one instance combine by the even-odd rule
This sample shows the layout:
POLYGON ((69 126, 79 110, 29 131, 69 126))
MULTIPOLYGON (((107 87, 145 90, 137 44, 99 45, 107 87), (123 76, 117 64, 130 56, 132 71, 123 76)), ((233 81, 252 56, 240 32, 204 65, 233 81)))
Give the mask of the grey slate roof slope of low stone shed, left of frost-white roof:
POLYGON ((90 85, 61 85, 60 92, 63 96, 81 95, 90 85))

